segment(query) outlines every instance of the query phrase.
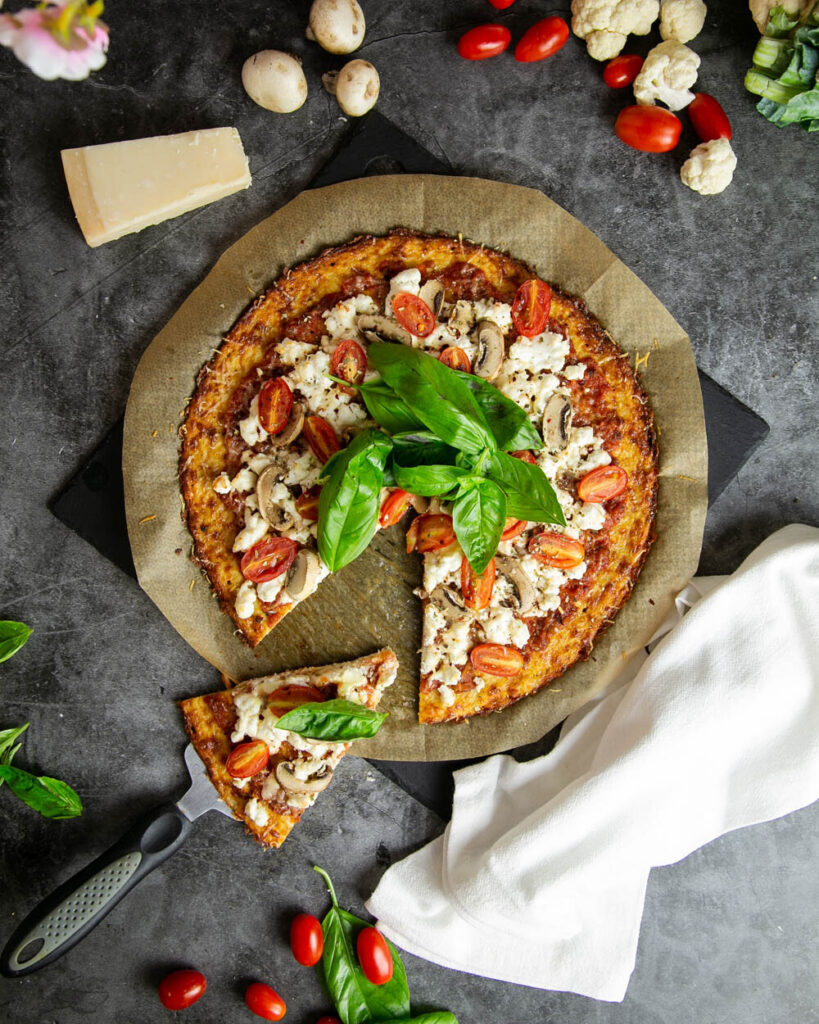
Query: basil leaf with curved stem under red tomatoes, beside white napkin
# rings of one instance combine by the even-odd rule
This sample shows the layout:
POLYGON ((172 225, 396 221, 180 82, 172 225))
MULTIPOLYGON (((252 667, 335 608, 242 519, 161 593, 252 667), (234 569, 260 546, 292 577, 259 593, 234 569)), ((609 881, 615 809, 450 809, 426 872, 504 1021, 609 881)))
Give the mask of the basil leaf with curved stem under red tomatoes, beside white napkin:
POLYGON ((358 965, 355 941, 358 932, 370 925, 339 906, 330 876, 314 866, 327 883, 333 905, 321 922, 325 951, 321 970, 325 984, 336 1005, 343 1024, 370 1024, 373 1020, 410 1018, 410 988, 401 958, 391 942, 392 978, 384 985, 374 985, 358 965))

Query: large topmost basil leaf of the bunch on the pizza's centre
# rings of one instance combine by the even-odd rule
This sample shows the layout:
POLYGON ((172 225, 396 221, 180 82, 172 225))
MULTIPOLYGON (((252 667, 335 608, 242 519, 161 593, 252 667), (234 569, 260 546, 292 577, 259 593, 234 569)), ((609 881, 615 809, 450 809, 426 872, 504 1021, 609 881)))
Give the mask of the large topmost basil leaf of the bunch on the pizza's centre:
POLYGON ((368 358, 411 412, 442 441, 464 452, 497 446, 470 389, 433 355, 406 345, 374 342, 368 358))

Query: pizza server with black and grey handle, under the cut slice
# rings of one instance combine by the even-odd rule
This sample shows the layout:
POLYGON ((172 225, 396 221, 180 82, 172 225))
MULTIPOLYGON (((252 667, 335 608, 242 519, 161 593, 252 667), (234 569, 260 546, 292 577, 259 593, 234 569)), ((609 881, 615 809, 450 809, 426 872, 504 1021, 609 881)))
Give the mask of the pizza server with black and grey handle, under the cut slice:
POLYGON ((39 971, 77 945, 155 867, 176 853, 206 811, 233 815, 219 800, 190 743, 185 748, 190 788, 175 804, 145 815, 114 846, 32 910, 0 954, 0 974, 39 971))

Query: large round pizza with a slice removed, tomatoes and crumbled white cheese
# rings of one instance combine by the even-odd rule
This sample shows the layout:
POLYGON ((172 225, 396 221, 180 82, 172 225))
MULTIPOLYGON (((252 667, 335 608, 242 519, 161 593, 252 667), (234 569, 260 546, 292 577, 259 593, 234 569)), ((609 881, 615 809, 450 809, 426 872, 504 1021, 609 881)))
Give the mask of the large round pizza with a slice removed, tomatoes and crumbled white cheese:
POLYGON ((480 575, 449 503, 382 495, 380 526, 412 514, 424 558, 420 721, 500 711, 587 658, 631 594, 654 536, 651 410, 585 304, 507 254, 396 229, 285 271, 200 374, 181 432, 195 558, 253 646, 330 572, 322 466, 375 426, 339 382, 377 376, 375 342, 490 381, 536 428, 510 454, 543 471, 565 524, 507 519, 480 575))

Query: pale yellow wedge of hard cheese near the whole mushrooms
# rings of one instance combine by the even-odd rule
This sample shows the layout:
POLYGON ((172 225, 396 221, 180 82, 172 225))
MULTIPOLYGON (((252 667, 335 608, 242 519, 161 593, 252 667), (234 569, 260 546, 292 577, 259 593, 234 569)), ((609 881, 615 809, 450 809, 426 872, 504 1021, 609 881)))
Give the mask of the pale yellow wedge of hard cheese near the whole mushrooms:
POLYGON ((62 167, 89 246, 141 231, 251 183, 235 128, 63 150, 62 167))

